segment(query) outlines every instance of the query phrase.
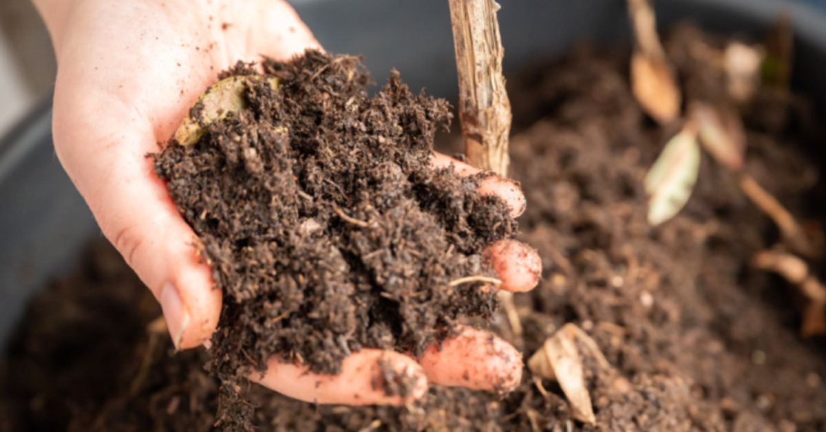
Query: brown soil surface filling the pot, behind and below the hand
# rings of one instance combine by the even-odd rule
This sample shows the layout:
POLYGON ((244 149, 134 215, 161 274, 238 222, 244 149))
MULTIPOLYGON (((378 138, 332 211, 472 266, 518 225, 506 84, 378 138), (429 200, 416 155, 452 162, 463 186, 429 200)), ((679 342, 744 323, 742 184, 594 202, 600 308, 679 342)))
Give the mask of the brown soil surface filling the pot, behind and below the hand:
MULTIPOLYGON (((691 26, 666 41, 689 97, 720 93, 703 50, 691 48, 698 41, 724 46, 691 26)), ((249 385, 243 393, 257 407, 254 424, 826 429, 824 339, 800 337, 805 299, 797 289, 752 267, 752 256, 778 233, 729 172, 704 156, 686 208, 657 228, 648 225, 643 178, 675 131, 643 115, 630 93, 628 64, 628 50, 582 46, 510 77, 517 125, 511 173, 529 202, 520 240, 539 249, 544 278, 534 292, 515 296, 523 335, 513 335, 502 317, 494 326, 526 358, 566 323, 585 330, 610 363, 583 357, 596 425, 573 420, 558 384, 527 369, 520 387, 504 396, 431 386, 422 401, 403 407, 316 406, 249 385)), ((811 113, 800 97, 765 88, 743 108, 743 119, 748 173, 817 226, 826 216, 819 207, 824 188, 813 162, 819 154, 809 151, 823 135, 811 113)), ((330 211, 327 221, 335 219, 330 211)), ((173 352, 159 313, 111 247, 95 244, 75 273, 31 303, 0 362, 0 429, 210 429, 220 383, 203 370, 202 350, 173 352)))

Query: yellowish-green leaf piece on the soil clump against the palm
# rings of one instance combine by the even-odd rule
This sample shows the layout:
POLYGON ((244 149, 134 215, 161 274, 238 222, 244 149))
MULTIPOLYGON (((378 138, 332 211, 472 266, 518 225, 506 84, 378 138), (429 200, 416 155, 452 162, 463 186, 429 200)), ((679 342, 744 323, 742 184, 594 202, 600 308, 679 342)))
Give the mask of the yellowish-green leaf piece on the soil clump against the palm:
MULTIPOLYGON (((189 110, 175 131, 173 139, 180 145, 193 145, 201 139, 207 126, 246 107, 244 98, 250 80, 264 79, 258 75, 235 76, 222 79, 204 92, 189 110)), ((266 78, 272 88, 278 88, 278 78, 266 78)))

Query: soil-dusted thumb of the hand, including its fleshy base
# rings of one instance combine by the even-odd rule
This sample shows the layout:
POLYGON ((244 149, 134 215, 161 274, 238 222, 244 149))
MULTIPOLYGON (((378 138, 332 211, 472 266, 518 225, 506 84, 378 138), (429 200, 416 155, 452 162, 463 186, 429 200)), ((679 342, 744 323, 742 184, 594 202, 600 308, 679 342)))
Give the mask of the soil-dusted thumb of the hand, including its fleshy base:
POLYGON ((176 348, 201 344, 216 328, 221 292, 146 157, 157 151, 151 122, 118 104, 84 107, 59 90, 53 123, 61 164, 103 234, 160 302, 176 348))

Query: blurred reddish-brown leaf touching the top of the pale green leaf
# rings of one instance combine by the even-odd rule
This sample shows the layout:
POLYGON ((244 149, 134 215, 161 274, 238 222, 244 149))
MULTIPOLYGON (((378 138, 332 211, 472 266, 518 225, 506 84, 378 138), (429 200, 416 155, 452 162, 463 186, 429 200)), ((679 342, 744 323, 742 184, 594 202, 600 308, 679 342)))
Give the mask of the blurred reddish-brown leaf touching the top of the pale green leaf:
POLYGON ((743 169, 746 131, 740 116, 703 102, 692 103, 689 116, 697 126, 700 144, 717 162, 735 173, 743 169))

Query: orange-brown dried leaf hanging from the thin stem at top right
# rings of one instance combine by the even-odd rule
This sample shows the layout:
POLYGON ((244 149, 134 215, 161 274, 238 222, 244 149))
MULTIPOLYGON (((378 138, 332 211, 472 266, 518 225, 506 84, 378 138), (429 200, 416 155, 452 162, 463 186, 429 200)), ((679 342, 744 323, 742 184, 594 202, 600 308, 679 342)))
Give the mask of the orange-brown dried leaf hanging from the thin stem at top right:
POLYGON ((634 51, 631 90, 643 110, 654 120, 667 124, 680 115, 680 88, 665 57, 651 57, 634 51))

